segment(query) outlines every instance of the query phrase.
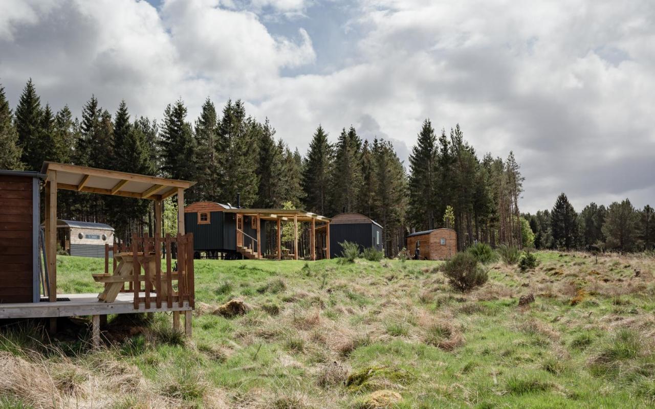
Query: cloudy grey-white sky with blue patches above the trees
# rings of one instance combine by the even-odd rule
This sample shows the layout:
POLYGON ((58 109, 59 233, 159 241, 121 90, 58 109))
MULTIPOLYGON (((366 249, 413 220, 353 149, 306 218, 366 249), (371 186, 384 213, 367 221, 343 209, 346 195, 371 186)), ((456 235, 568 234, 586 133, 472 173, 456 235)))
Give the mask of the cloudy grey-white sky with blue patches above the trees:
POLYGON ((514 151, 521 211, 655 205, 652 0, 2 0, 0 83, 42 103, 189 121, 242 99, 303 154, 318 124, 392 141, 425 118, 514 151))

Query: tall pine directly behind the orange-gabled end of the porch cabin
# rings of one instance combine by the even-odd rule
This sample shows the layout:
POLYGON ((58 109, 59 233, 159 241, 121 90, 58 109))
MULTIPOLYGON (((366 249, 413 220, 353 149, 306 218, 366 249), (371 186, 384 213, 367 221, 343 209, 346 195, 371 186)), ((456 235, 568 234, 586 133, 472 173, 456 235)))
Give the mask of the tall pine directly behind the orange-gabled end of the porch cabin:
POLYGON ((202 104, 195 124, 195 162, 197 185, 193 187, 198 200, 218 200, 218 162, 216 154, 217 116, 211 99, 202 104))

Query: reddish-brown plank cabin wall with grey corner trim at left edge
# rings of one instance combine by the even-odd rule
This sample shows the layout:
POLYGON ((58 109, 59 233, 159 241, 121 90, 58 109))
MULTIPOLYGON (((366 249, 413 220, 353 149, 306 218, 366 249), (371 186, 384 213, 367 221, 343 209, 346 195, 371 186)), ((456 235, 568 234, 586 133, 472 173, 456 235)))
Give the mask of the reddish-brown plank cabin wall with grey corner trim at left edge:
POLYGON ((0 303, 39 302, 42 176, 0 170, 0 303))

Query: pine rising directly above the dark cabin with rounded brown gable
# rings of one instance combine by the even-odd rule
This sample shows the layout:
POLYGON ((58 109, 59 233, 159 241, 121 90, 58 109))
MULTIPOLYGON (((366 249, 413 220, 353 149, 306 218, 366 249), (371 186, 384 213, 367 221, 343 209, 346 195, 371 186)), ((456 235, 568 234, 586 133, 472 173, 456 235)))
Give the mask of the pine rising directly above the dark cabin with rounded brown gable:
POLYGON ((357 211, 356 200, 362 188, 362 139, 350 126, 343 128, 335 147, 331 183, 331 212, 357 211))

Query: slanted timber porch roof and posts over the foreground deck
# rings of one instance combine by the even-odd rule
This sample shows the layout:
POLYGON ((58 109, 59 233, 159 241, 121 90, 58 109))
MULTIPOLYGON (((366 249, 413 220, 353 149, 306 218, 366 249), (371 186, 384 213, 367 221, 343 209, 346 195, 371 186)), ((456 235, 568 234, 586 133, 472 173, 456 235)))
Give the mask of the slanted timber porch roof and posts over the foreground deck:
MULTIPOLYGON (((41 173, 45 181, 45 253, 50 302, 57 300, 57 191, 75 190, 155 202, 155 236, 162 236, 162 200, 178 195, 178 233, 185 234, 184 190, 195 182, 165 179, 106 169, 87 168, 55 162, 44 162, 41 173)), ((136 297, 136 295, 135 295, 136 297)))

